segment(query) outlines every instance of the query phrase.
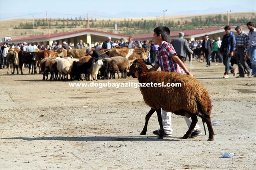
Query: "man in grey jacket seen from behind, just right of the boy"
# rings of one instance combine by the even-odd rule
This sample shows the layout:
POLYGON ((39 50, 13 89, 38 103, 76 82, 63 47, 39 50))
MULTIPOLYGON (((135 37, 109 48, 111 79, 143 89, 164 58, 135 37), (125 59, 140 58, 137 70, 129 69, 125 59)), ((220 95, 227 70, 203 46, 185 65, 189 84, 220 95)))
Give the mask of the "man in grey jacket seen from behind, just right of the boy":
POLYGON ((183 38, 184 32, 179 33, 179 37, 175 38, 171 44, 173 45, 176 54, 180 58, 180 60, 184 63, 185 58, 187 56, 186 50, 189 51, 190 54, 193 54, 193 51, 189 48, 188 42, 183 38))

